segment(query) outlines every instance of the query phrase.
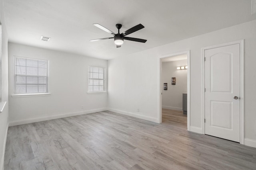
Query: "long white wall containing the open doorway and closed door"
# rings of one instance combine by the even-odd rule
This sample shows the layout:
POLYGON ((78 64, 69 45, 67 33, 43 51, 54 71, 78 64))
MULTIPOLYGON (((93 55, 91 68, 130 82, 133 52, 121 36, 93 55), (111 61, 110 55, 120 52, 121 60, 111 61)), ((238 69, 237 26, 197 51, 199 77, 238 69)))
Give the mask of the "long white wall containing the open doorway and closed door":
POLYGON ((245 138, 256 143, 256 20, 108 61, 108 107, 157 121, 158 57, 190 50, 190 125, 202 129, 201 48, 240 39, 244 39, 245 138))

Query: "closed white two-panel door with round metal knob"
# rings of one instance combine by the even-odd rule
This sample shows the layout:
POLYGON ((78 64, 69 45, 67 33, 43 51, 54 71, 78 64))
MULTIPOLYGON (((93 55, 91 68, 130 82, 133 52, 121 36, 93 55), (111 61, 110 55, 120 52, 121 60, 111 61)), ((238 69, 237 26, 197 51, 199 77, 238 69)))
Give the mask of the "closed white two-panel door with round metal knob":
POLYGON ((240 44, 204 51, 205 134, 240 142, 240 44))

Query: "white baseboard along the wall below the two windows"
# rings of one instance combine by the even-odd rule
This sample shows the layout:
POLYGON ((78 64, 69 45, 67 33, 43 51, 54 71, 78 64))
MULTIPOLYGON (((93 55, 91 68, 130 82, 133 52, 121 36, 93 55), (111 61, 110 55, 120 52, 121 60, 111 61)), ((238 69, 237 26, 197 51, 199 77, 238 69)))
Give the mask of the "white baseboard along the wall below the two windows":
POLYGON ((59 119, 59 118, 63 118, 63 117, 70 117, 70 116, 76 116, 76 115, 84 115, 84 114, 88 114, 88 113, 94 113, 94 112, 105 111, 105 110, 107 110, 107 109, 106 108, 92 109, 92 110, 77 111, 77 112, 72 112, 72 113, 63 113, 63 114, 58 114, 58 115, 35 117, 35 118, 30 118, 30 119, 18 120, 18 121, 10 121, 9 126, 23 125, 23 124, 27 124, 27 123, 35 123, 35 122, 39 122, 39 121, 59 119))

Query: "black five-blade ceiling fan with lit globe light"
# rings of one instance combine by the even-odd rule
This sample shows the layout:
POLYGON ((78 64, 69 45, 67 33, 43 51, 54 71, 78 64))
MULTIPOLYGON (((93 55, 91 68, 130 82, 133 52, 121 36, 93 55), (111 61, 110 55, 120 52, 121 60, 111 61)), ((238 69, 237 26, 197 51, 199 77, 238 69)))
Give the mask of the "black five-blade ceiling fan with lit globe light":
POLYGON ((130 41, 137 41, 137 42, 140 42, 140 43, 146 43, 146 41, 147 41, 146 39, 125 37, 126 35, 129 35, 131 33, 134 33, 135 31, 138 31, 138 30, 144 28, 144 26, 142 24, 138 24, 138 25, 136 25, 136 26, 134 26, 134 27, 124 31, 123 33, 119 32, 120 28, 122 27, 122 24, 120 24, 120 23, 116 24, 116 28, 118 29, 118 33, 114 33, 114 32, 110 31, 109 29, 103 27, 102 25, 100 25, 98 23, 94 23, 93 25, 95 25, 96 27, 102 29, 103 31, 106 31, 107 33, 110 33, 110 34, 114 35, 114 37, 92 39, 90 41, 99 41, 99 40, 114 38, 114 42, 116 44, 116 48, 121 47, 121 45, 124 43, 124 39, 130 40, 130 41))

